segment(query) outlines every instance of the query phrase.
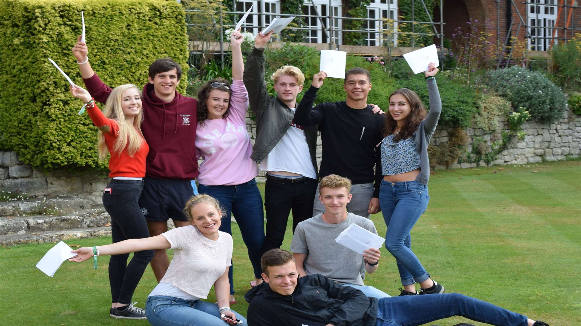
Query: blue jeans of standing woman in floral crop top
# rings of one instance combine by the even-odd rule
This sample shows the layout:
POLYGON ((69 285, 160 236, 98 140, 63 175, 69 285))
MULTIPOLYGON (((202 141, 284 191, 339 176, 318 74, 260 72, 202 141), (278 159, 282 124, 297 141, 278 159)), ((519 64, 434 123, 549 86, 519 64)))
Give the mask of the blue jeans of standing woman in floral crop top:
POLYGON ((381 182, 379 207, 388 226, 385 248, 396 258, 402 285, 423 282, 430 277, 411 251, 410 236, 429 200, 428 186, 420 182, 381 182))

